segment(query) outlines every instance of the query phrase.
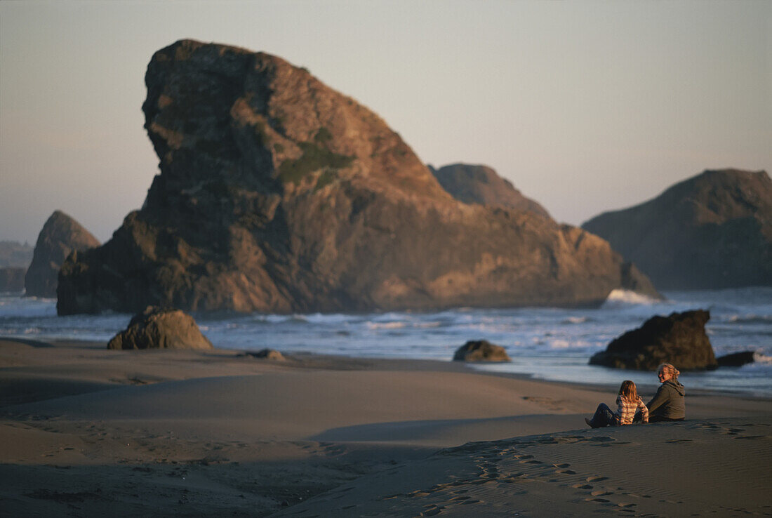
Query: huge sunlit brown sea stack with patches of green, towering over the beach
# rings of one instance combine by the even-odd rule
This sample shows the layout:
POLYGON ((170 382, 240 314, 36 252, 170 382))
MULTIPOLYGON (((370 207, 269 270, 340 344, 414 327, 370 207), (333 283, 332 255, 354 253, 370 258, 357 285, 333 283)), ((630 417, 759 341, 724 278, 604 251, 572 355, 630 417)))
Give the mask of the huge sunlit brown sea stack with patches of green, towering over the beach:
POLYGON ((154 54, 145 83, 161 173, 109 242, 63 266, 60 314, 576 306, 635 283, 655 294, 589 232, 456 201, 378 115, 283 59, 183 40, 154 54))

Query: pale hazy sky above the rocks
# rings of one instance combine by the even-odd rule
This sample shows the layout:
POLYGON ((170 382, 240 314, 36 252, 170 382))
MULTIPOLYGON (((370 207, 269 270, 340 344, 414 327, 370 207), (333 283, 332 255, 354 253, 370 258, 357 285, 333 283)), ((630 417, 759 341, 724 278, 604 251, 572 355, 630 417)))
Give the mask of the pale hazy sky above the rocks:
POLYGON ((0 240, 109 239, 157 173, 152 54, 306 66, 422 161, 488 164, 561 222, 706 168, 772 171, 772 2, 0 2, 0 240))

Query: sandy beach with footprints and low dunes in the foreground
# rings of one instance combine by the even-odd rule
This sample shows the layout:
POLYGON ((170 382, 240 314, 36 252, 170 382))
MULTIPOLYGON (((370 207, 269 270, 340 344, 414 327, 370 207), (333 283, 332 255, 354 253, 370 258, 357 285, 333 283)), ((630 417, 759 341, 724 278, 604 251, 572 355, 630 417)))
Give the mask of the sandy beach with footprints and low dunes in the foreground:
POLYGON ((10 338, 0 388, 2 516, 772 515, 770 399, 591 430, 615 388, 10 338))

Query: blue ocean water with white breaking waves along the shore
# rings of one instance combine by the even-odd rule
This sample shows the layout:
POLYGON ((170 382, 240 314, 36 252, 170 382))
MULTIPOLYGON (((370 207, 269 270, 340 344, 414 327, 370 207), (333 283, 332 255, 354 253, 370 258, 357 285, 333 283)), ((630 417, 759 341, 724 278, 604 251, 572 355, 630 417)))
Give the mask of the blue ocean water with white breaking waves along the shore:
MULTIPOLYGON (((480 364, 484 371, 527 374, 551 381, 604 384, 618 388, 624 379, 657 384, 655 373, 588 365, 595 352, 654 315, 673 311, 710 311, 706 330, 716 356, 743 350, 757 361, 743 367, 685 372, 686 388, 772 397, 772 287, 664 293, 650 300, 615 291, 598 309, 458 308, 438 312, 193 313, 215 347, 347 357, 411 358, 451 361, 467 340, 485 339, 506 348, 508 364, 480 364)), ((0 336, 36 340, 75 339, 107 342, 124 330, 131 315, 56 316, 56 300, 0 295, 0 336)), ((678 367, 676 365, 676 367, 678 367)))

